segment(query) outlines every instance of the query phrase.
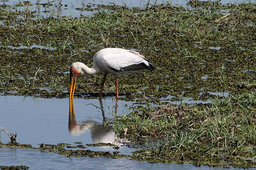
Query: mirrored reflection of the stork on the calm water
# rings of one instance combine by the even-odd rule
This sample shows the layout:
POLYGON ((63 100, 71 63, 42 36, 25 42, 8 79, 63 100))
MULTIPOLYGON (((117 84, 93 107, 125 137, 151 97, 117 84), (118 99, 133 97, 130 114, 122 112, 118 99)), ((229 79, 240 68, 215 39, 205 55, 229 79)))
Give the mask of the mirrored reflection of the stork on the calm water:
MULTIPOLYGON (((73 99, 69 99, 69 132, 72 136, 80 136, 86 131, 91 131, 91 138, 94 143, 113 143, 115 145, 121 146, 125 139, 118 138, 112 126, 104 125, 105 115, 104 108, 102 104, 102 99, 99 99, 100 109, 102 112, 102 124, 95 122, 94 120, 84 120, 77 123, 75 117, 75 109, 73 99)), ((118 104, 115 102, 115 114, 117 113, 118 104)))

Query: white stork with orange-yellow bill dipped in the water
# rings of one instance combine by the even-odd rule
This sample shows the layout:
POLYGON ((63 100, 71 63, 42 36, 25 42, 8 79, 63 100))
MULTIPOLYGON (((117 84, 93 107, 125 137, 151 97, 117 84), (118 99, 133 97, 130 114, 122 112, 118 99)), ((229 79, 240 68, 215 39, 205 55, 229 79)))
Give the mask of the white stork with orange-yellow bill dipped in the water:
POLYGON ((94 76, 98 72, 104 72, 99 96, 102 96, 106 76, 112 74, 116 78, 116 97, 118 98, 118 77, 140 69, 155 70, 152 63, 138 52, 122 48, 104 48, 94 55, 91 68, 81 62, 75 62, 71 65, 69 98, 73 99, 74 97, 78 74, 94 76))

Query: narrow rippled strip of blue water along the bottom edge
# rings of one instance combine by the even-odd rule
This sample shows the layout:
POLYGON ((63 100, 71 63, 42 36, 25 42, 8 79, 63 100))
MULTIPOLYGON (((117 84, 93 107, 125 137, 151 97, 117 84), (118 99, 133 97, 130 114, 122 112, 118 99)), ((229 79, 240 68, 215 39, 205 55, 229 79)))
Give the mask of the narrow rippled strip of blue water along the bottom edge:
MULTIPOLYGON (((221 170, 222 167, 195 167, 191 164, 147 163, 130 159, 72 157, 31 150, 0 149, 1 165, 27 165, 29 169, 200 169, 221 170), (10 161, 11 160, 11 161, 10 161), (47 163, 46 163, 47 162, 47 163)), ((239 169, 239 168, 232 168, 239 169)), ((252 169, 252 168, 251 168, 252 169)))

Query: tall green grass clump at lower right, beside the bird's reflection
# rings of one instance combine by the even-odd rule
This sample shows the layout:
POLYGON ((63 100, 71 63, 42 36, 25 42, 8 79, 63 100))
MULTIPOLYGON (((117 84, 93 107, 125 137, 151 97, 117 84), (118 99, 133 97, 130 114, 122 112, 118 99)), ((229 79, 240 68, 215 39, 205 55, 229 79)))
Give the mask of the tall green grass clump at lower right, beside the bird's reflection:
POLYGON ((120 136, 152 149, 133 159, 209 166, 255 167, 256 95, 231 95, 210 104, 143 108, 114 120, 120 136), (123 130, 127 128, 124 136, 123 130))

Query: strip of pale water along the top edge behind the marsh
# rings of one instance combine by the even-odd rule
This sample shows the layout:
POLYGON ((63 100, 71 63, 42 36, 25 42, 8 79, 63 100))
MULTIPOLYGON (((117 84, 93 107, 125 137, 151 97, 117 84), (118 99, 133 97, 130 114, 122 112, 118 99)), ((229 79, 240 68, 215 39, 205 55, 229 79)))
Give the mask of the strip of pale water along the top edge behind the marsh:
MULTIPOLYGON (((109 1, 100 1, 100 0, 31 0, 31 6, 25 5, 25 0, 10 0, 10 1, 0 1, 0 5, 11 5, 15 7, 15 10, 24 11, 24 10, 31 10, 35 11, 38 16, 49 17, 49 16, 71 16, 71 17, 79 17, 81 15, 91 15, 92 13, 96 13, 98 11, 97 5, 119 5, 124 6, 126 5, 128 8, 137 7, 137 8, 144 8, 147 4, 147 0, 109 0, 109 1), (79 10, 80 8, 88 8, 90 10, 79 10)), ((161 0, 155 1, 151 0, 150 4, 163 4, 163 3, 172 3, 173 5, 179 5, 183 7, 187 7, 188 1, 178 1, 178 0, 161 0)), ((253 3, 253 1, 251 1, 253 3)), ((228 4, 228 3, 248 3, 244 0, 221 0, 220 3, 228 4)), ((14 9, 13 9, 14 10, 14 9)))

